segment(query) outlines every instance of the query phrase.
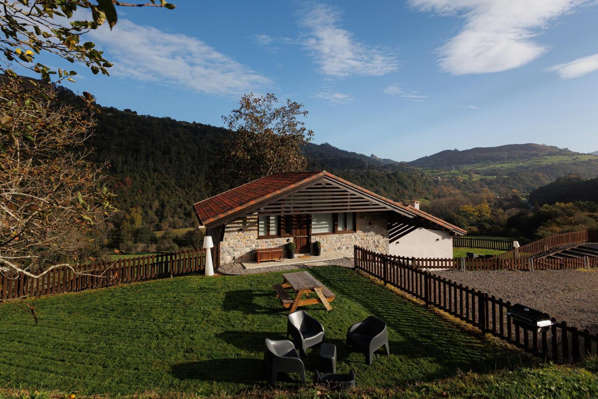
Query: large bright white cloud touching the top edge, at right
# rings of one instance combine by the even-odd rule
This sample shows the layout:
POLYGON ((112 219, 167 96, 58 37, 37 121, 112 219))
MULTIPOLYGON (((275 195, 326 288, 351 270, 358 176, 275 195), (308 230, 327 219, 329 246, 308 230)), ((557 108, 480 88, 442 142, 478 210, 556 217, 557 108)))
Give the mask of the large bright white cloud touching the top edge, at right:
POLYGON ((533 38, 548 22, 590 0, 410 0, 413 7, 465 19, 462 31, 438 49, 440 67, 454 75, 501 72, 548 50, 533 38))

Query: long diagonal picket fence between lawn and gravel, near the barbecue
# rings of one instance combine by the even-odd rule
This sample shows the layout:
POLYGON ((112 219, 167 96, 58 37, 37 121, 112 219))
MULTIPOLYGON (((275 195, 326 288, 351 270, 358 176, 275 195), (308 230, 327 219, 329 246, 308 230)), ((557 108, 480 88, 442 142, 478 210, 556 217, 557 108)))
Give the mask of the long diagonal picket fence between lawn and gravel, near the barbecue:
POLYGON ((517 327, 507 315, 511 303, 494 295, 457 284, 421 268, 398 261, 396 256, 372 252, 355 246, 355 268, 383 280, 429 306, 444 310, 484 333, 521 347, 545 361, 577 362, 585 356, 598 355, 598 336, 580 331, 566 322, 557 322, 538 332, 517 327))

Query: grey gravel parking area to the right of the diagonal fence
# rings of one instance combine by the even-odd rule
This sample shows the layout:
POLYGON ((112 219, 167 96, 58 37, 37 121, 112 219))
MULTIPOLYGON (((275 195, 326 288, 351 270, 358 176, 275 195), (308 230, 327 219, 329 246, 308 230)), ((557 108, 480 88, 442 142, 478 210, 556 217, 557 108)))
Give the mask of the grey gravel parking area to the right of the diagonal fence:
POLYGON ((542 310, 558 321, 598 334, 598 270, 435 271, 435 274, 542 310))

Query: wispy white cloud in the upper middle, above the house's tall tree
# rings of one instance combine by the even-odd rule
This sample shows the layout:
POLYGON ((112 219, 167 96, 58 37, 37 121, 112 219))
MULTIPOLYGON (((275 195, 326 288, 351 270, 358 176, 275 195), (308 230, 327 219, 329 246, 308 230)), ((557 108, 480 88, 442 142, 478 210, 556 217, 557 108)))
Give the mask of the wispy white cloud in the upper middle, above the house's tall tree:
POLYGON ((398 68, 388 49, 361 43, 352 32, 340 28, 337 11, 328 5, 314 5, 300 23, 308 30, 303 46, 325 75, 384 75, 398 68))

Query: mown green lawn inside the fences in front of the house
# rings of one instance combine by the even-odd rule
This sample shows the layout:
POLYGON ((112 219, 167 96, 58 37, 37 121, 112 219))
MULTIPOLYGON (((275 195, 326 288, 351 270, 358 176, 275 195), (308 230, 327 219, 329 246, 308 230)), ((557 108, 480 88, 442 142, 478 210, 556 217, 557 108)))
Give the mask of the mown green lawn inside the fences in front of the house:
MULTIPOLYGON (((306 309, 338 348, 338 371, 359 385, 394 388, 472 371, 486 374, 533 360, 463 332, 424 307, 340 267, 310 269, 337 298, 334 310, 306 309), (388 323, 390 356, 344 347, 347 328, 368 315, 388 323)), ((281 273, 175 279, 32 300, 39 325, 0 305, 0 386, 83 394, 153 391, 239 394, 261 389, 264 338, 284 338, 286 315, 271 285, 281 273)), ((307 378, 318 367, 308 352, 307 378)), ((281 379, 284 381, 285 377, 281 379)), ((282 383, 293 387, 297 376, 282 383)))

